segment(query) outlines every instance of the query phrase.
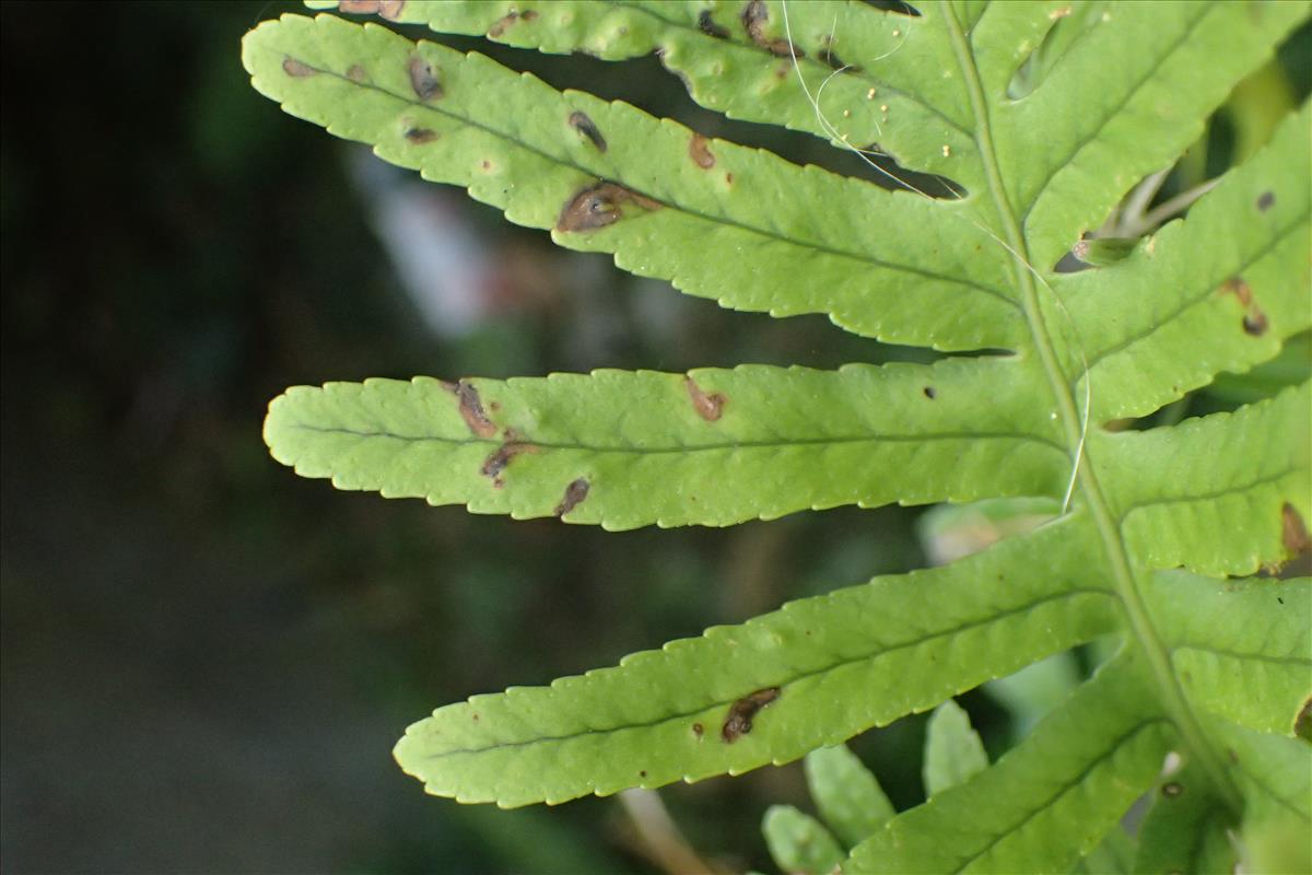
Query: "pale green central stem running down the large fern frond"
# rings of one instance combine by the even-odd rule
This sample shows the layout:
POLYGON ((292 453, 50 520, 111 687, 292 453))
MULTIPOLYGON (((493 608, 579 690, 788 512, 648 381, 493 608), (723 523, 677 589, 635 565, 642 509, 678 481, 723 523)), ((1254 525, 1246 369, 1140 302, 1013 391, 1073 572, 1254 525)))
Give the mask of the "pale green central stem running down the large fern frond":
MULTIPOLYGON (((1084 433, 1078 407, 1067 382, 1067 375, 1057 362, 1052 340, 1048 336, 1047 323, 1039 304, 1038 289, 1035 287, 1034 278, 1030 273, 1031 260, 1027 240, 1021 230, 1022 226, 1017 222, 1015 213, 1013 211, 1006 194, 1006 186, 1002 182, 997 153, 993 150, 992 126, 988 113, 989 104, 984 97, 984 87, 979 76, 979 70, 975 66, 974 50, 971 49, 970 41, 962 31, 960 21, 956 18, 956 10, 953 7, 951 0, 939 0, 939 8, 943 13, 943 21, 953 42, 958 67, 962 71, 963 81, 970 92, 971 106, 975 113, 975 139, 979 146, 980 156, 984 161, 989 192, 993 197, 998 219, 1002 223, 1006 243, 1009 244, 1013 254, 1013 269, 1015 272, 1017 285, 1021 289, 1025 317, 1030 325, 1035 352, 1039 354, 1039 361, 1043 365, 1044 374, 1048 379, 1054 400, 1056 401, 1057 411, 1067 433, 1068 453, 1078 466, 1076 470, 1076 478, 1080 484, 1080 492, 1085 502, 1089 505, 1090 514, 1093 516, 1094 525, 1098 530, 1098 537, 1102 540, 1103 552, 1106 554, 1111 567, 1114 589, 1126 613, 1128 632, 1134 641, 1144 652, 1144 656, 1151 666, 1153 680, 1162 695, 1162 704, 1165 706, 1166 714, 1170 716, 1170 720, 1176 724, 1177 731, 1183 737, 1185 745, 1195 753, 1199 763, 1207 773, 1216 792, 1219 792, 1224 799, 1227 807, 1232 812, 1237 813, 1242 808, 1240 803, 1241 795, 1237 787, 1235 787, 1228 771, 1221 765, 1220 757, 1208 743, 1199 716, 1194 712, 1193 706, 1185 697, 1185 691, 1179 685, 1179 678, 1176 676, 1170 653, 1162 641, 1158 630, 1153 624, 1144 596, 1139 590, 1134 572, 1134 563, 1130 559, 1130 552, 1124 543, 1124 535, 1111 512, 1110 504, 1102 493, 1102 487, 1094 470, 1093 459, 1086 451, 1081 453, 1084 447, 1084 433)), ((1138 91, 1138 85, 1131 91, 1138 91)), ((1047 184, 1044 184, 1044 188, 1046 185, 1047 184)))

